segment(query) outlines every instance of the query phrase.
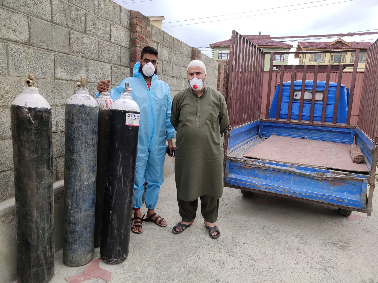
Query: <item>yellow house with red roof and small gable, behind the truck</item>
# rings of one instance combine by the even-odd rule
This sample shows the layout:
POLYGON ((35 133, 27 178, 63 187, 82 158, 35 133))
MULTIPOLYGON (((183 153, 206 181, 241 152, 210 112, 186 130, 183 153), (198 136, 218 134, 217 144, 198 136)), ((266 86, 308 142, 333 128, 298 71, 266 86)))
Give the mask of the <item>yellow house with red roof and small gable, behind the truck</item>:
MULTIPOLYGON (((299 59, 300 65, 328 65, 328 64, 354 64, 356 52, 350 49, 359 49, 358 71, 364 71, 366 64, 367 49, 372 45, 370 42, 346 42, 342 38, 333 42, 300 41, 296 51, 322 51, 337 50, 337 53, 321 54, 295 54, 294 58, 299 59)), ((353 67, 345 68, 345 71, 352 71, 353 67)))

